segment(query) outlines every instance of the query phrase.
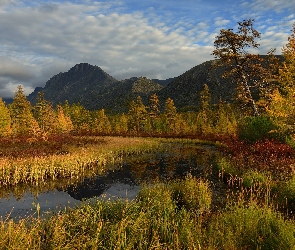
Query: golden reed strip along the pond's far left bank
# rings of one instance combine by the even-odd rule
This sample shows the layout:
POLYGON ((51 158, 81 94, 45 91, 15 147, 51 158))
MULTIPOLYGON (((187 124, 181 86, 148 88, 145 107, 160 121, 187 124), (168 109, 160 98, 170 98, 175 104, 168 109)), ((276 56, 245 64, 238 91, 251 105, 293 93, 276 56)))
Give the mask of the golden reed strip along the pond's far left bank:
MULTIPOLYGON (((101 138, 100 138, 101 140, 101 138)), ((65 145, 64 154, 0 158, 0 186, 19 183, 40 185, 58 178, 79 179, 107 170, 107 165, 120 164, 122 156, 159 149, 157 140, 146 138, 104 137, 104 143, 65 145)))

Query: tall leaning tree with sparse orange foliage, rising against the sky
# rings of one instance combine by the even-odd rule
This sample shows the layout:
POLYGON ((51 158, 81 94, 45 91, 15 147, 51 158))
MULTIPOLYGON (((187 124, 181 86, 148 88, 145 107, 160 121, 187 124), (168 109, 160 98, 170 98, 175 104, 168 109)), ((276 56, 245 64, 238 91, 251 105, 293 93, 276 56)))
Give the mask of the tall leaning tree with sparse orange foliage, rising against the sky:
POLYGON ((260 38, 260 33, 254 29, 253 22, 253 19, 238 22, 237 32, 233 32, 233 29, 220 30, 212 54, 219 59, 217 66, 227 68, 223 77, 232 77, 243 92, 240 97, 250 104, 253 114, 258 116, 254 97, 271 90, 278 60, 273 56, 274 50, 266 58, 246 51, 247 48, 259 47, 256 40, 260 38))

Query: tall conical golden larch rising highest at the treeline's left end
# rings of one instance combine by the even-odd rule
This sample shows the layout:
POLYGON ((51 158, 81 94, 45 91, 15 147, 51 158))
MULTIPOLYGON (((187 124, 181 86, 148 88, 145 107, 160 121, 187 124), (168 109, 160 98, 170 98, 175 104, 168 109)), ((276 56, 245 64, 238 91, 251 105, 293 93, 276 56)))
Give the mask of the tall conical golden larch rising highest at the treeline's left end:
POLYGON ((22 86, 19 85, 13 102, 9 106, 12 130, 15 135, 37 135, 39 133, 39 126, 31 109, 31 104, 27 100, 22 86))

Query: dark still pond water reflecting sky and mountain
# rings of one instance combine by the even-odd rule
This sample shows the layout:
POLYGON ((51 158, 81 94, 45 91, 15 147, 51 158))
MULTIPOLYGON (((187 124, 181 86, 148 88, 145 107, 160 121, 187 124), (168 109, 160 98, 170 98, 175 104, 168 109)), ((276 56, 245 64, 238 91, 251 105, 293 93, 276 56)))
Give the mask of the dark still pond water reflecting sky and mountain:
POLYGON ((41 216, 79 205, 92 197, 132 200, 141 183, 194 176, 212 175, 212 162, 219 153, 208 146, 173 146, 165 152, 126 157, 123 164, 103 176, 84 178, 79 183, 51 185, 36 191, 22 186, 15 190, 0 190, 0 217, 24 218, 41 216))

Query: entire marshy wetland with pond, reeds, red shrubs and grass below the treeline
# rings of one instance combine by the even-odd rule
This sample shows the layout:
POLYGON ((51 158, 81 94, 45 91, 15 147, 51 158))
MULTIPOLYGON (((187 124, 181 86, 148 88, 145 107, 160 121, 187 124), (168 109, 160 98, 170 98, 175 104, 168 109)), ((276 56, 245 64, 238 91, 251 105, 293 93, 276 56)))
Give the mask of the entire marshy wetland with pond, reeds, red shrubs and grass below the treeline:
POLYGON ((65 136, 1 144, 1 249, 294 249, 293 149, 65 136))

